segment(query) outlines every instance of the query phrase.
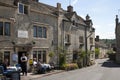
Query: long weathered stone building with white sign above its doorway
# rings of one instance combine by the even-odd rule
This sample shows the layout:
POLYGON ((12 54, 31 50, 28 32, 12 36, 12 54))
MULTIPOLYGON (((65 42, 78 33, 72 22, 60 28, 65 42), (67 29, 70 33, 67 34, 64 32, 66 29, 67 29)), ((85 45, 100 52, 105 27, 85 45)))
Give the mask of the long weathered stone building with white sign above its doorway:
MULTIPOLYGON (((43 4, 38 0, 0 0, 0 52, 1 59, 22 53, 29 59, 49 63, 49 52, 58 63, 59 47, 67 50, 67 61, 72 62, 74 52, 80 48, 94 52, 95 29, 89 15, 84 20, 68 6, 67 10, 43 4)), ((91 55, 94 59, 94 54, 91 55)))

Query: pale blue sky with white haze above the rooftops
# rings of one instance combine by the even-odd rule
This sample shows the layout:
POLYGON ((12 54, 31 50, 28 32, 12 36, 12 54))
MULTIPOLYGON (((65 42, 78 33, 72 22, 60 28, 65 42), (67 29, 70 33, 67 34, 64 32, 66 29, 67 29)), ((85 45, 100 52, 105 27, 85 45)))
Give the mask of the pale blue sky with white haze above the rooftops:
POLYGON ((115 18, 120 18, 120 0, 39 0, 39 2, 56 7, 56 3, 61 3, 61 7, 67 10, 68 5, 72 5, 77 15, 85 19, 89 14, 95 28, 95 35, 100 39, 115 38, 115 18))

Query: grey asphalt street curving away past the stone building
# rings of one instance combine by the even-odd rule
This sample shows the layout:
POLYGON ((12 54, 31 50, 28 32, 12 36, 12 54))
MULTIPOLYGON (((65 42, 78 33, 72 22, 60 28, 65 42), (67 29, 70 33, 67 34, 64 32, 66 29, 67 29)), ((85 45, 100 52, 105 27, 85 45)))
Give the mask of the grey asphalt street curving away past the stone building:
POLYGON ((62 72, 34 80, 119 80, 120 65, 108 59, 98 59, 96 64, 82 69, 62 72))

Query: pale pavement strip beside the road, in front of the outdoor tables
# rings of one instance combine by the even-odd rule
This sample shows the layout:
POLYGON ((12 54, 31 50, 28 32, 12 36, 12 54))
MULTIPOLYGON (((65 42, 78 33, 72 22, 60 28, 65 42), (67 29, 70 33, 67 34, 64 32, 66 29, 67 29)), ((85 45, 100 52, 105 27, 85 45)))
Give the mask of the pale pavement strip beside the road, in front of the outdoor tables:
POLYGON ((49 76, 49 75, 57 74, 57 73, 61 73, 61 72, 64 72, 64 71, 63 70, 52 70, 45 74, 28 73, 27 76, 20 76, 20 77, 21 77, 21 80, 34 80, 36 78, 41 78, 41 77, 45 77, 45 76, 49 76))

